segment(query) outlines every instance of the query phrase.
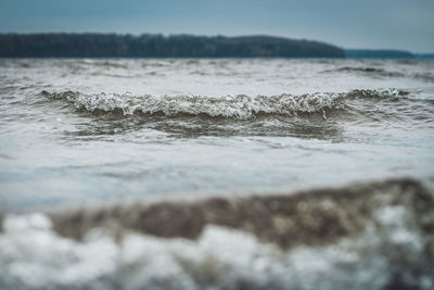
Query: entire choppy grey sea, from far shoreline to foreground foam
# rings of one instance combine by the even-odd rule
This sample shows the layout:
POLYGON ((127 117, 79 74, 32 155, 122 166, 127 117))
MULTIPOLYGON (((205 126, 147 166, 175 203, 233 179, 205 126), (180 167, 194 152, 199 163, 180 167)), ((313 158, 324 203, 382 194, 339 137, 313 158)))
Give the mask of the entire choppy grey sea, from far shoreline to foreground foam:
POLYGON ((433 289, 434 60, 0 59, 1 289, 433 289))

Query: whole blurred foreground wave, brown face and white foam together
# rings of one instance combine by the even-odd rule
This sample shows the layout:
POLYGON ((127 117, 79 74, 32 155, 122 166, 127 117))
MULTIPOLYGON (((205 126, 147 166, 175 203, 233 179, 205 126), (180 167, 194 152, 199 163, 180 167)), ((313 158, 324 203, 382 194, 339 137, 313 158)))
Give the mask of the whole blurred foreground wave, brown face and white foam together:
POLYGON ((9 215, 0 286, 432 289, 433 206, 419 181, 395 179, 9 215))

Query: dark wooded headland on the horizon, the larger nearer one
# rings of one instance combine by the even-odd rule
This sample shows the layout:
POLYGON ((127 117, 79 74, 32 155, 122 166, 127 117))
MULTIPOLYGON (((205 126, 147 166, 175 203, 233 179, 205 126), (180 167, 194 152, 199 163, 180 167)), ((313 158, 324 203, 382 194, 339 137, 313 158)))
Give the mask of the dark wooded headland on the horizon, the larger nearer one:
POLYGON ((2 58, 344 58, 335 46, 270 36, 2 34, 2 58))

